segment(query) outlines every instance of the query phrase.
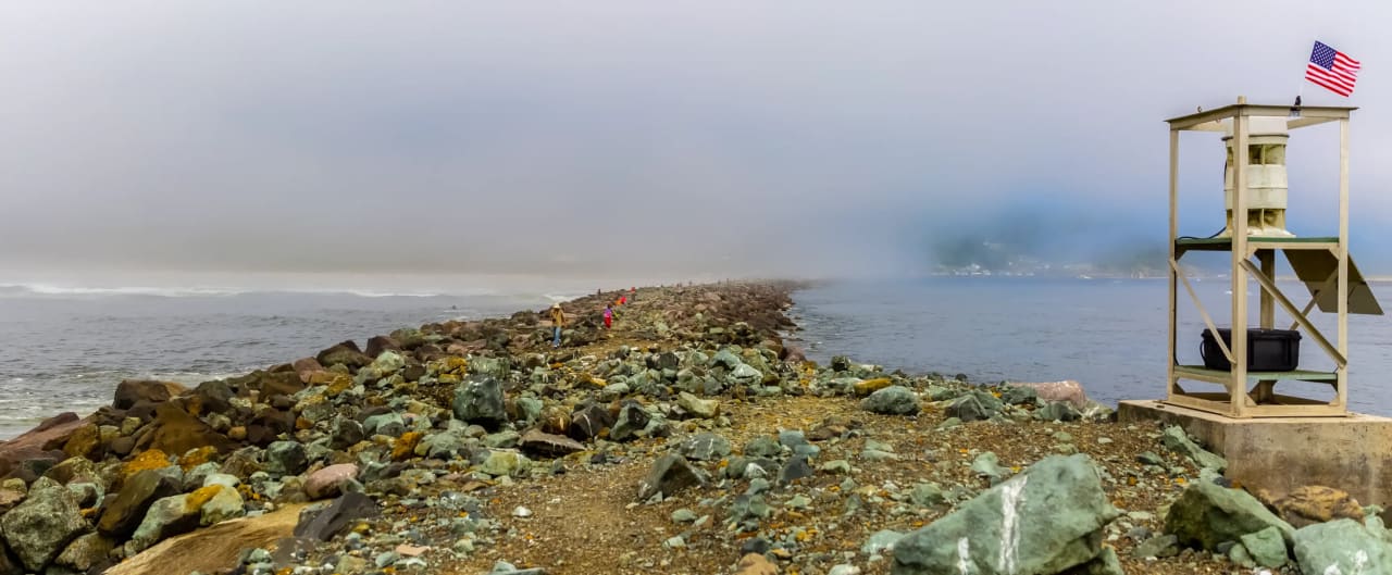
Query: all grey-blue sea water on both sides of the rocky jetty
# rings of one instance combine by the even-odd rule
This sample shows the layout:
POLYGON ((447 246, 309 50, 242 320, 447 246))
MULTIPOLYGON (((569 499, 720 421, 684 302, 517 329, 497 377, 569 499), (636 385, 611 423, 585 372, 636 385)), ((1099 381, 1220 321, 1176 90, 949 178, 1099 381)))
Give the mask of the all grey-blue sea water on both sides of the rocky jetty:
MULTIPOLYGON (((1228 281, 1196 287, 1212 313, 1226 309, 1228 281)), ((1300 285, 1283 288, 1299 294, 1300 285)), ((1374 291, 1392 309, 1392 284, 1375 284, 1374 291)), ((0 439, 63 411, 85 415, 110 404, 116 384, 128 377, 196 384, 313 355, 344 340, 363 344, 400 327, 544 309, 579 295, 461 292, 466 295, 0 285, 0 439)), ((1164 390, 1162 280, 846 281, 802 290, 793 299, 802 326, 793 337, 814 359, 846 354, 889 369, 966 373, 976 381, 1075 379, 1108 404, 1164 390)), ((1182 309, 1187 301, 1180 292, 1182 309)), ((1332 330, 1334 322, 1317 324, 1332 330)), ((1200 362, 1201 331, 1197 313, 1180 316, 1182 362, 1200 362)), ((1352 405, 1392 415, 1392 391, 1382 380, 1392 369, 1392 320, 1352 316, 1349 333, 1352 405)), ((1328 365, 1304 338, 1302 368, 1328 365)), ((1320 384, 1278 390, 1332 394, 1320 384)))

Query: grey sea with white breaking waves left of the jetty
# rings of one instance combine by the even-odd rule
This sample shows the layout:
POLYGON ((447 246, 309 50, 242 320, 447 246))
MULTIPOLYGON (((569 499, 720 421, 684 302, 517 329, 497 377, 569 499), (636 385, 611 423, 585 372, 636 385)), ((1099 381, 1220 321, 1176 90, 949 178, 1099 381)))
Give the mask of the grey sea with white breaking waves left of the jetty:
POLYGON ((544 309, 568 294, 0 285, 0 439, 111 402, 129 377, 196 384, 344 340, 544 309))

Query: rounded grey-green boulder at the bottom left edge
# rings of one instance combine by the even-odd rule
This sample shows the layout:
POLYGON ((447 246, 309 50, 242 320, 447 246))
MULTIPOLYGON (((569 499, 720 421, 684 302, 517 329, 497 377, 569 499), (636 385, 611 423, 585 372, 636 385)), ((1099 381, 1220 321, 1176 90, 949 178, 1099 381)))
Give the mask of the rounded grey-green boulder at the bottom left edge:
POLYGON ((36 480, 24 503, 0 517, 0 532, 29 571, 42 571, 85 530, 72 491, 50 479, 36 480))

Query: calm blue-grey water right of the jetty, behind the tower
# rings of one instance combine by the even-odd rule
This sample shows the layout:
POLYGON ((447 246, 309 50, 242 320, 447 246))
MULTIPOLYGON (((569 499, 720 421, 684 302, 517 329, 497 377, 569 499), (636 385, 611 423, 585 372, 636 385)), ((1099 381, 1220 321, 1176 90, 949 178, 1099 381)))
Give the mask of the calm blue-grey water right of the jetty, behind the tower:
MULTIPOLYGON (((1194 283, 1200 301, 1224 327, 1229 323, 1231 281, 1194 283)), ((1308 292, 1281 283, 1303 306, 1308 292)), ((1256 315, 1258 287, 1249 288, 1256 315)), ((1392 284, 1374 283, 1384 309, 1392 310, 1392 284)), ((831 355, 906 372, 965 373, 973 381, 1083 383, 1091 398, 1160 398, 1165 391, 1165 280, 1080 280, 933 277, 903 281, 824 283, 795 295, 793 315, 807 355, 831 355)), ((1179 288, 1178 356, 1203 363, 1199 354, 1203 317, 1179 288)), ((1334 341, 1332 315, 1315 326, 1334 341)), ((1276 313, 1276 327, 1289 316, 1276 313)), ((1310 337, 1300 341, 1300 368, 1332 370, 1334 363, 1310 337)), ((1392 415, 1392 317, 1349 316, 1349 404, 1352 409, 1392 415)), ((1182 383, 1189 390, 1217 386, 1182 383)), ((1328 400, 1334 390, 1317 383, 1279 383, 1278 393, 1328 400)))

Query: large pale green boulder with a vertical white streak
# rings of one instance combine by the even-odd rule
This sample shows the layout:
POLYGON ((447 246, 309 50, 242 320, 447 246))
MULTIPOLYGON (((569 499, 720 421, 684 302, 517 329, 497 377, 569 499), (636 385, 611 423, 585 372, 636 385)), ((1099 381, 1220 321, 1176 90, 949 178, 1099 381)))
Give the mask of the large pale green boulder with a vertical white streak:
POLYGON ((1054 455, 901 539, 895 575, 1058 574, 1102 553, 1121 512, 1086 455, 1054 455))

